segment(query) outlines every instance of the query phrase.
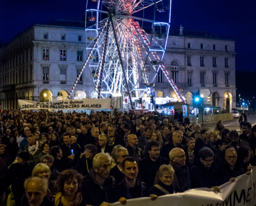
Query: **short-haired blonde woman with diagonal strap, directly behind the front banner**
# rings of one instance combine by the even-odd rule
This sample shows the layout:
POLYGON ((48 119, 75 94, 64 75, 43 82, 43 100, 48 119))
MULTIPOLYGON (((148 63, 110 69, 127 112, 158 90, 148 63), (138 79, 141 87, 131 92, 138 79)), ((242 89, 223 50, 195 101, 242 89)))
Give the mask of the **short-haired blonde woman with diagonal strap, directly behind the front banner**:
POLYGON ((178 187, 172 184, 174 173, 172 165, 161 165, 158 170, 159 182, 149 188, 150 194, 155 194, 159 197, 178 193, 178 187))

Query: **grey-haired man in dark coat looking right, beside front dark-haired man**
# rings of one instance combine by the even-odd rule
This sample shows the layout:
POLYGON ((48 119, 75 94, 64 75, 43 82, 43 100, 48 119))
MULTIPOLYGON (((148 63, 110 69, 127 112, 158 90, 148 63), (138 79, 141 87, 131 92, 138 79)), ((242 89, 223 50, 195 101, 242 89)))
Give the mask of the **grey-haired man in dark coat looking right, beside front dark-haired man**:
POLYGON ((108 205, 113 197, 115 179, 110 176, 111 157, 98 153, 93 159, 93 168, 84 178, 82 196, 86 204, 94 206, 108 205))

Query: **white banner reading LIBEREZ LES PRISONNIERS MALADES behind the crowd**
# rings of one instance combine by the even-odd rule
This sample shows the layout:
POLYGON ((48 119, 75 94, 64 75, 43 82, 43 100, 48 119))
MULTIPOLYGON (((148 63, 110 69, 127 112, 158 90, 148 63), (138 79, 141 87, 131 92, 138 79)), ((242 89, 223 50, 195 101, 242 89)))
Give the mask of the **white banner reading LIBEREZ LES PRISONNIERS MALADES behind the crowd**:
POLYGON ((18 100, 20 110, 33 109, 110 109, 111 99, 65 99, 57 101, 37 102, 28 100, 18 100))

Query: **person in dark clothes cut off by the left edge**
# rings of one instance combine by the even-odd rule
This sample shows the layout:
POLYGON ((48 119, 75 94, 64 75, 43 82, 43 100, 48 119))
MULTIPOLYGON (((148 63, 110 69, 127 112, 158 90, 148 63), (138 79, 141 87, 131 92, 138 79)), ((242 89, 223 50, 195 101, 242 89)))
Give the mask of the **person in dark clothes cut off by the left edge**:
POLYGON ((0 144, 0 197, 3 197, 5 192, 8 167, 12 163, 11 156, 5 149, 6 145, 0 144))

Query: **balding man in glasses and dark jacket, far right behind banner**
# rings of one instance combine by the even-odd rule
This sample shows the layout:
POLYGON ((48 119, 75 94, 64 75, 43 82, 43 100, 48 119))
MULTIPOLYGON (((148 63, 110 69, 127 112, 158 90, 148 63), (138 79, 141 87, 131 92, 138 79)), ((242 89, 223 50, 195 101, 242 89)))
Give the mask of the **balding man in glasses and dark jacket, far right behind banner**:
POLYGON ((216 169, 215 180, 217 185, 228 181, 234 181, 235 177, 245 174, 242 167, 236 164, 237 153, 235 149, 230 148, 225 151, 225 162, 216 169))

